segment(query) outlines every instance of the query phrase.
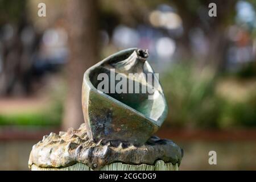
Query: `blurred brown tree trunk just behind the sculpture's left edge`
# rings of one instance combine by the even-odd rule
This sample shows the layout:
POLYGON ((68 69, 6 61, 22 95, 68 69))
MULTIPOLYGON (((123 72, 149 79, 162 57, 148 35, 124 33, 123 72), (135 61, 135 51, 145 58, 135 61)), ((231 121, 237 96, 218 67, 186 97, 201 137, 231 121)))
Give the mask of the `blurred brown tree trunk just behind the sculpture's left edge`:
POLYGON ((67 1, 69 34, 68 93, 63 129, 76 129, 84 122, 81 106, 82 78, 86 69, 97 62, 97 1, 67 1))

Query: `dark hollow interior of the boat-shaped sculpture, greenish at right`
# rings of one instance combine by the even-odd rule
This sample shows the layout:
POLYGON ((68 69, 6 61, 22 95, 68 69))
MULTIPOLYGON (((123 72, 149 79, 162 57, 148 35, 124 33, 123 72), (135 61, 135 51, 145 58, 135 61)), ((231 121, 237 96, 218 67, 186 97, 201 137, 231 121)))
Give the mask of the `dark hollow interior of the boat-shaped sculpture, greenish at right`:
POLYGON ((90 82, 94 88, 104 92, 105 94, 108 94, 108 96, 122 102, 122 104, 137 110, 147 118, 159 122, 159 124, 162 123, 162 121, 159 120, 165 109, 163 94, 160 93, 157 89, 155 89, 153 93, 142 92, 142 89, 145 88, 145 85, 143 85, 141 82, 130 80, 129 77, 123 77, 126 79, 126 84, 124 84, 126 85, 126 88, 118 86, 118 82, 122 80, 115 80, 117 73, 114 73, 113 78, 113 72, 111 72, 112 71, 110 69, 103 66, 94 68, 89 74, 90 82), (98 75, 100 73, 106 73, 105 76, 107 77, 98 79, 98 75), (105 84, 102 84, 102 81, 105 81, 105 84), (112 83, 110 81, 112 81, 112 83), (131 82, 133 84, 131 84, 131 82), (121 93, 117 93, 117 89, 119 88, 126 90, 126 92, 122 91, 121 93), (137 89, 137 91, 135 89, 137 89))

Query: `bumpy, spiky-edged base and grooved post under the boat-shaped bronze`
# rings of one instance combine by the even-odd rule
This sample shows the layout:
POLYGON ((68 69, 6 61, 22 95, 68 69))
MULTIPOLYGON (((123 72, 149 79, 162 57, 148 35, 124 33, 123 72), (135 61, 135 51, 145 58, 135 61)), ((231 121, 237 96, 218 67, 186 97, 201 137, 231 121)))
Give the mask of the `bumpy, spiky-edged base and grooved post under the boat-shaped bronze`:
POLYGON ((89 140, 85 124, 59 135, 51 133, 35 144, 28 166, 31 170, 141 170, 179 169, 183 151, 174 142, 151 137, 140 146, 119 140, 89 140))

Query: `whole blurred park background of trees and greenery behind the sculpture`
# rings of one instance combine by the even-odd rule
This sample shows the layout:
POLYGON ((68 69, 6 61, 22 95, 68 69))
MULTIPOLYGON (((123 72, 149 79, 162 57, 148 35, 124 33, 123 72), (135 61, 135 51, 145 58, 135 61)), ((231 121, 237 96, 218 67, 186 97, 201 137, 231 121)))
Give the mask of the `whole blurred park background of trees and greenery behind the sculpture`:
POLYGON ((181 170, 256 169, 255 0, 0 0, 0 169, 79 127, 83 73, 130 47, 150 51, 170 109, 157 135, 184 149, 181 170))

